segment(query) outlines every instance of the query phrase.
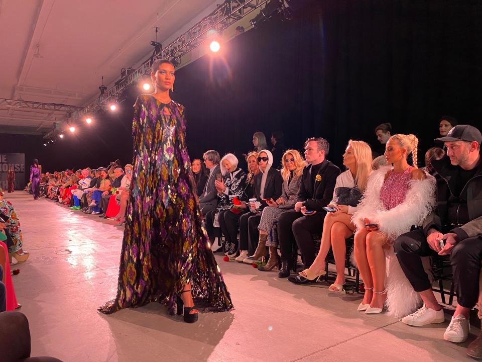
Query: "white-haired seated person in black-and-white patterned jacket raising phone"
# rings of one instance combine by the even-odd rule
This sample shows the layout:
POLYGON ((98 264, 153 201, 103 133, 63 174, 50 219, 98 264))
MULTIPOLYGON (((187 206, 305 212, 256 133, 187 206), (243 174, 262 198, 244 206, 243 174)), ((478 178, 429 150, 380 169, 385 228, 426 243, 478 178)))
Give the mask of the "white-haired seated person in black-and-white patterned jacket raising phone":
POLYGON ((238 168, 237 164, 238 159, 232 153, 222 157, 220 166, 222 178, 214 181, 218 207, 206 214, 206 230, 211 245, 214 243, 214 221, 217 214, 218 225, 226 239, 224 250, 228 252, 227 255, 229 257, 236 255, 237 228, 232 227, 232 222, 226 223, 224 220, 229 219, 229 221, 234 220, 237 222, 239 219, 240 214, 235 214, 235 209, 232 209, 234 206, 233 201, 243 197, 247 178, 246 172, 238 168))

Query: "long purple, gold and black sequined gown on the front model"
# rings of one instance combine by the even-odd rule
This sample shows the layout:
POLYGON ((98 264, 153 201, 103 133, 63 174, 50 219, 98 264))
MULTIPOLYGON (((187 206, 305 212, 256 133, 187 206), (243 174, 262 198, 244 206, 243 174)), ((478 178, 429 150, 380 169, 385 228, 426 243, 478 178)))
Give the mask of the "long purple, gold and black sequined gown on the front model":
POLYGON ((113 313, 157 300, 174 312, 186 283, 196 307, 232 308, 195 195, 185 142, 184 107, 149 95, 134 105, 134 156, 117 296, 99 308, 113 313))

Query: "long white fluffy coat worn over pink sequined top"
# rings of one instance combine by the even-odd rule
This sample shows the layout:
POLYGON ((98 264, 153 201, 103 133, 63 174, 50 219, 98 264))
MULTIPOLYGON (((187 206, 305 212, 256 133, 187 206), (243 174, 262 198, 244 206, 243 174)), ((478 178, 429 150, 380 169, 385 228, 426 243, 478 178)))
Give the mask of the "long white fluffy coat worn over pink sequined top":
POLYGON ((427 174, 424 180, 412 180, 405 200, 391 210, 386 210, 380 199, 380 191, 385 175, 391 166, 372 172, 368 179, 362 201, 351 221, 356 230, 365 227, 364 219, 378 224, 379 230, 388 235, 388 245, 384 248, 386 256, 386 288, 389 314, 404 317, 413 313, 420 305, 420 297, 408 282, 393 251, 393 241, 403 233, 409 232, 412 225, 420 226, 435 206, 435 179, 427 174))

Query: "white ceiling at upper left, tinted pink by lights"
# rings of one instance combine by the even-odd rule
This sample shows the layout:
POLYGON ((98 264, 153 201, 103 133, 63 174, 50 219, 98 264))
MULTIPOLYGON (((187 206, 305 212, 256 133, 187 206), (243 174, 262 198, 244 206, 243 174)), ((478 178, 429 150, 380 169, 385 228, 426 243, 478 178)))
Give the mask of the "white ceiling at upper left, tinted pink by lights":
MULTIPOLYGON (((218 1, 222 3, 221 0, 218 1)), ((213 0, 0 0, 0 98, 83 106, 213 0)), ((167 45, 167 44, 165 44, 167 45)), ((42 134, 65 113, 0 106, 0 133, 42 134)))

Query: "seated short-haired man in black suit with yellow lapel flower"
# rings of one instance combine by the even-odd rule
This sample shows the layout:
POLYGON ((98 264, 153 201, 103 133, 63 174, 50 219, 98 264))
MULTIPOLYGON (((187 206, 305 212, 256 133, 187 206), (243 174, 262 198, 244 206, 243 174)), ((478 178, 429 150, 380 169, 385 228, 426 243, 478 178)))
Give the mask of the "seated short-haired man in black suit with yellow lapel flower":
POLYGON ((278 219, 282 262, 279 278, 290 275, 292 246, 295 241, 301 251, 305 268, 315 260, 312 234, 322 232, 326 215, 323 207, 333 198, 336 177, 340 174, 340 169, 326 159, 328 151, 329 143, 324 138, 309 138, 305 142, 305 159, 309 164, 301 176, 298 202, 295 210, 284 212, 278 219))

